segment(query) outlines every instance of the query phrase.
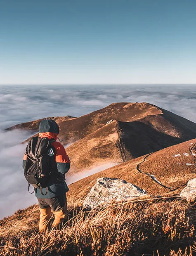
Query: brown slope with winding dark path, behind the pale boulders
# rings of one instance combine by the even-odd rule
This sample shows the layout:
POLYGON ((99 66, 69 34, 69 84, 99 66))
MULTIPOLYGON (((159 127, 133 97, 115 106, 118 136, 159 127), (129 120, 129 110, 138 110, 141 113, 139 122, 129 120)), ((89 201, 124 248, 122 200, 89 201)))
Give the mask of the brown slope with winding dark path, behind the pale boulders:
POLYGON ((79 180, 69 186, 68 200, 72 204, 83 204, 97 178, 101 177, 124 179, 154 196, 179 193, 188 180, 196 178, 195 153, 190 151, 194 143, 196 139, 132 159, 79 180))

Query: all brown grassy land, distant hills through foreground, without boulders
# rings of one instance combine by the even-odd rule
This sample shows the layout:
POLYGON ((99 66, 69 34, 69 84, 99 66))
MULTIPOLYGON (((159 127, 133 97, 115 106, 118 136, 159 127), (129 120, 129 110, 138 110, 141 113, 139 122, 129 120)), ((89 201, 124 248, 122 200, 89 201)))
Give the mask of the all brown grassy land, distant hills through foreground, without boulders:
MULTIPOLYGON (((72 163, 67 175, 120 164, 69 186, 68 222, 61 231, 39 234, 37 205, 0 220, 0 255, 196 253, 196 206, 179 199, 196 178, 195 123, 147 103, 113 103, 79 118, 54 119, 64 143, 74 142, 66 149, 72 163), (124 179, 148 196, 88 212, 83 200, 101 177, 124 179)), ((40 120, 10 129, 36 130, 40 120)))

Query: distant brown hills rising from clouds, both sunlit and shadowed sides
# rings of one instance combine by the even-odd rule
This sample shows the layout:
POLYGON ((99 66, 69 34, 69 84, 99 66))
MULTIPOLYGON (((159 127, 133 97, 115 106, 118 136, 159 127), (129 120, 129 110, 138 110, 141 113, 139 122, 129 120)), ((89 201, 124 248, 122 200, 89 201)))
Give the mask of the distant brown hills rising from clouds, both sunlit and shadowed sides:
MULTIPOLYGON (((113 103, 78 118, 54 119, 63 144, 72 143, 66 149, 71 159, 69 175, 119 164, 196 138, 196 123, 145 102, 113 103)), ((38 129, 40 120, 9 129, 38 129)))

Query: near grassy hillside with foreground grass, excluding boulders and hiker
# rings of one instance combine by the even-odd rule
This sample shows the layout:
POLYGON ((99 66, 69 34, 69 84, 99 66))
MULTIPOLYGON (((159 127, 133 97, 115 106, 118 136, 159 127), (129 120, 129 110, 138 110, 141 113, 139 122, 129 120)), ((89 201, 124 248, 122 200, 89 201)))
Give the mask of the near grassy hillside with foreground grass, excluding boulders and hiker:
POLYGON ((196 254, 196 204, 179 197, 187 181, 196 178, 191 153, 195 142, 132 159, 73 183, 67 194, 68 222, 61 231, 39 234, 37 205, 0 220, 0 255, 196 254), (123 178, 148 195, 90 212, 82 209, 83 199, 103 176, 123 178))

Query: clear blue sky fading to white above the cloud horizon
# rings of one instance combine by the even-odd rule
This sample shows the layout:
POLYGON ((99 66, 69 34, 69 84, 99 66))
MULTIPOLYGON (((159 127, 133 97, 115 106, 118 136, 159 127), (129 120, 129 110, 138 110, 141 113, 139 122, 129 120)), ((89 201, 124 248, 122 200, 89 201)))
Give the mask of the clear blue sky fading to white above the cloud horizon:
POLYGON ((196 0, 0 0, 0 84, 196 83, 196 0))

